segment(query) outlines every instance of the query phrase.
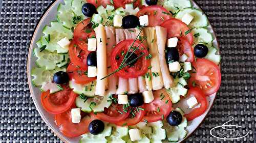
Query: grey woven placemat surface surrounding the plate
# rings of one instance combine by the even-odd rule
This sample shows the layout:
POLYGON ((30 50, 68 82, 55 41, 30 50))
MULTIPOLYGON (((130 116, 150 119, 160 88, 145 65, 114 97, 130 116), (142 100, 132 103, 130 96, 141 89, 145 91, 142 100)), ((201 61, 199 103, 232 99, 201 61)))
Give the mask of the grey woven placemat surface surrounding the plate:
MULTIPOLYGON (((178 0, 177 0, 178 1, 178 0)), ((185 142, 256 142, 256 1, 200 0, 215 27, 222 58, 217 99, 202 125, 185 142), (212 137, 209 130, 232 116, 248 136, 212 137)), ((0 142, 61 142, 37 112, 27 84, 29 42, 51 1, 0 0, 0 142)))

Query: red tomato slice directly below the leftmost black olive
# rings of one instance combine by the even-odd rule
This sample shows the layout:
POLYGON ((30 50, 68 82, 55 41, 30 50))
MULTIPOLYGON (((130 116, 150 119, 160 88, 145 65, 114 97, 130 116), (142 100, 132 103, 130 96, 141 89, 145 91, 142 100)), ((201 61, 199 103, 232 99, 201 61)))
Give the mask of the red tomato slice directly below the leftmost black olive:
POLYGON ((75 101, 77 95, 69 88, 69 85, 62 85, 63 90, 50 94, 50 91, 41 93, 42 107, 49 113, 57 114, 65 112, 75 101))

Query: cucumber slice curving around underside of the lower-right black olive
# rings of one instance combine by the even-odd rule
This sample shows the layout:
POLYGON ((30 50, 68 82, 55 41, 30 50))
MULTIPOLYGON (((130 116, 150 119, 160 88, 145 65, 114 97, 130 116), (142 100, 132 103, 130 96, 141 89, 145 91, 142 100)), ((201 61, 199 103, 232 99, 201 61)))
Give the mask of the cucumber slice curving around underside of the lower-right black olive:
POLYGON ((169 142, 177 142, 180 139, 183 139, 187 135, 187 131, 184 129, 187 127, 187 119, 184 117, 184 112, 180 108, 176 108, 176 111, 179 111, 182 115, 182 122, 178 126, 170 126, 166 120, 164 120, 163 128, 166 130, 166 135, 169 142))

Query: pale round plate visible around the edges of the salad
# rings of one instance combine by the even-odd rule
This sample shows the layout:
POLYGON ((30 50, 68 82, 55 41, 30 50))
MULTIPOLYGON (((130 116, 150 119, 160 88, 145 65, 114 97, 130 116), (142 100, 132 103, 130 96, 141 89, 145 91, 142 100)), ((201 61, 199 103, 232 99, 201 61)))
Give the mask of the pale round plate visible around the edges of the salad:
MULTIPOLYGON (((198 4, 192 0, 191 2, 193 2, 193 7, 198 8, 200 10, 202 10, 198 4)), ((49 25, 50 21, 56 20, 56 15, 57 15, 57 7, 58 5, 62 3, 64 4, 63 0, 57 0, 57 1, 53 1, 53 3, 47 8, 47 10, 44 12, 44 14, 42 14, 42 16, 40 17, 39 21, 37 22, 37 25, 35 27, 34 30, 34 34, 33 37, 31 39, 30 42, 30 47, 29 47, 29 53, 28 53, 28 65, 27 65, 27 73, 28 73, 28 83, 29 83, 29 90, 32 96, 32 99, 34 101, 35 107, 38 110, 41 118, 45 121, 45 123, 47 124, 47 126, 64 142, 79 142, 80 137, 76 137, 76 138, 69 138, 64 136, 63 134, 61 134, 59 132, 59 129, 57 128, 57 126, 54 123, 54 116, 51 115, 50 113, 48 113, 41 105, 41 101, 40 101, 40 90, 37 87, 34 87, 34 85, 31 82, 31 76, 30 76, 30 71, 31 69, 35 66, 35 61, 36 61, 36 57, 33 56, 32 54, 32 49, 33 47, 36 47, 36 42, 38 41, 38 39, 40 38, 41 34, 42 34, 42 28, 44 28, 45 25, 49 25)), ((215 32, 212 28, 212 26, 209 24, 208 25, 208 30, 209 32, 212 34, 212 36, 214 37, 214 46, 217 47, 219 49, 219 44, 217 42, 216 39, 216 35, 215 32)), ((191 135, 191 133, 193 133, 198 126, 203 122, 203 120, 205 119, 206 115, 208 114, 210 108, 212 107, 212 103, 214 103, 214 100, 216 98, 216 93, 213 95, 208 96, 208 102, 209 102, 209 106, 206 110, 206 112, 198 117, 197 119, 188 122, 188 127, 186 128, 188 133, 186 138, 191 135)), ((180 102, 177 105, 180 107, 184 107, 184 102, 180 102)), ((187 108, 182 108, 185 112, 188 112, 187 108)), ((184 138, 184 139, 186 139, 184 138)), ((183 141, 184 139, 180 140, 179 142, 183 141)))

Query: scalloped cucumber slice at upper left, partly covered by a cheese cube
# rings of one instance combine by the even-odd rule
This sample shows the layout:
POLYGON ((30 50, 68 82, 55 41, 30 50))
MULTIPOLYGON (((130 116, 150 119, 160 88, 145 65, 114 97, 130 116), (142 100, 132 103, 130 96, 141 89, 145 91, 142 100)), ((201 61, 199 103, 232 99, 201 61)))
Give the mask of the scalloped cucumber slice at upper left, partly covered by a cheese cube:
POLYGON ((63 27, 58 21, 52 21, 51 26, 46 25, 42 33, 44 33, 44 36, 42 36, 40 40, 41 45, 46 45, 45 50, 49 52, 57 51, 57 53, 68 53, 69 49, 60 47, 57 42, 65 37, 72 39, 73 33, 71 30, 63 27))

